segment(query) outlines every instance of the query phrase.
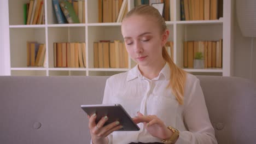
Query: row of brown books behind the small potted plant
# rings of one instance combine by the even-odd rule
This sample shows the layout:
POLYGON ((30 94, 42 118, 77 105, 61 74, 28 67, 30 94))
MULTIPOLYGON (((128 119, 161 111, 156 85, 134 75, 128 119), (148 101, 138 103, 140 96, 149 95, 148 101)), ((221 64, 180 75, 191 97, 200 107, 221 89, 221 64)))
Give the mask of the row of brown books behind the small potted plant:
POLYGON ((205 68, 222 68, 222 42, 219 41, 184 41, 184 68, 193 68, 197 52, 201 52, 205 68))

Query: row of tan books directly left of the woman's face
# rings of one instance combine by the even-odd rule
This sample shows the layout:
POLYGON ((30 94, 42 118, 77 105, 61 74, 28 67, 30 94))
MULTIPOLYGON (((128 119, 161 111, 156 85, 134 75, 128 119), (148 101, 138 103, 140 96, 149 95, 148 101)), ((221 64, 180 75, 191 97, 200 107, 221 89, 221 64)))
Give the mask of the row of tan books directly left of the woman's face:
POLYGON ((119 40, 94 43, 94 68, 128 68, 128 53, 119 40))

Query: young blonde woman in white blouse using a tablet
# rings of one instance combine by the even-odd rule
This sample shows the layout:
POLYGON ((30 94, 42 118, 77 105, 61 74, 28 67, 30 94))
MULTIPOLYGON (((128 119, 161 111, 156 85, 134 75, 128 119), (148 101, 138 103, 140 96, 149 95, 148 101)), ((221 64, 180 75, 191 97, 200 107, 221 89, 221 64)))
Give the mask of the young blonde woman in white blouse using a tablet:
POLYGON ((109 77, 103 104, 121 104, 139 131, 115 131, 89 117, 92 143, 217 143, 199 80, 178 68, 165 50, 169 31, 160 13, 139 5, 125 16, 121 32, 136 67, 109 77), (114 132, 113 132, 114 131, 114 132))

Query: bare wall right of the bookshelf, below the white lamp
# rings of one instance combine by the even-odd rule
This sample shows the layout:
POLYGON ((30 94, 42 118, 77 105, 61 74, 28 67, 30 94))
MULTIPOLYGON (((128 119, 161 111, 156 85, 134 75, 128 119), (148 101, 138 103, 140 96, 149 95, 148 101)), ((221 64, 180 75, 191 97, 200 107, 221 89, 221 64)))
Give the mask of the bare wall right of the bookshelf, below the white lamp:
POLYGON ((253 38, 253 49, 251 50, 252 38, 243 37, 236 13, 234 18, 234 76, 256 82, 256 38, 253 38))

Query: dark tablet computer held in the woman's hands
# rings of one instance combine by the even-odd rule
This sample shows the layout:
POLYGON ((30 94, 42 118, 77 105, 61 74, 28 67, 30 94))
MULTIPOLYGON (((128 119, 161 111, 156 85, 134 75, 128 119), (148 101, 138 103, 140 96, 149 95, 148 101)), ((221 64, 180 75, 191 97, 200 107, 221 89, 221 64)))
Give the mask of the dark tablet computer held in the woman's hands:
POLYGON ((123 125, 122 129, 117 131, 138 131, 139 127, 132 121, 130 115, 120 104, 100 104, 100 105, 81 105, 81 108, 89 115, 96 113, 96 123, 104 116, 108 116, 108 121, 104 124, 119 121, 123 125))

